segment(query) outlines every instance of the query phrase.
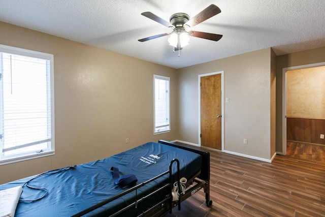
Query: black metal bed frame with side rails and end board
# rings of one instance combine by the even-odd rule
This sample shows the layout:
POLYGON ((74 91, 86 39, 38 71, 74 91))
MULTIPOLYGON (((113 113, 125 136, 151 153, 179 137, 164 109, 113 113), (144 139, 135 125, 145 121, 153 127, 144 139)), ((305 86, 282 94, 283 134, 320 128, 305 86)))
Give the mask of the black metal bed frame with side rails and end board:
POLYGON ((174 146, 177 148, 181 148, 181 149, 185 149, 191 152, 195 152, 198 153, 202 156, 202 166, 201 166, 201 170, 194 175, 193 177, 191 177, 189 180, 187 180, 186 182, 186 190, 184 194, 179 194, 178 200, 177 201, 173 201, 173 197, 172 197, 172 189, 173 189, 173 183, 172 183, 172 166, 174 164, 174 162, 176 162, 177 164, 177 185, 178 185, 178 189, 180 189, 180 174, 179 174, 179 161, 177 159, 174 159, 171 161, 170 165, 169 165, 169 170, 167 170, 164 173, 161 173, 160 175, 151 178, 145 182, 142 182, 138 185, 136 185, 135 187, 132 187, 120 194, 115 195, 114 197, 111 197, 107 200, 102 201, 101 203, 98 203, 94 206, 91 206, 75 215, 73 215, 73 217, 77 217, 77 216, 82 216, 87 214, 88 212, 95 210, 96 208, 99 208, 109 202, 112 202, 114 200, 116 200, 117 198, 120 198, 126 194, 129 194, 131 192, 136 192, 136 199, 133 203, 127 205, 126 207, 118 210, 117 212, 115 212, 114 214, 110 215, 110 216, 118 216, 118 215, 122 215, 124 211, 127 211, 128 209, 136 209, 137 212, 134 213, 134 216, 137 217, 147 217, 147 216, 163 216, 167 213, 172 213, 172 209, 175 206, 178 206, 178 210, 181 209, 181 202, 184 201, 185 199, 187 199, 188 197, 192 196, 193 194, 195 194, 196 192, 200 191, 201 189, 204 190, 205 192, 205 203, 207 206, 211 206, 212 205, 212 200, 210 199, 210 153, 207 151, 203 151, 203 150, 199 150, 199 149, 195 149, 195 148, 191 148, 191 147, 187 147, 187 146, 182 146, 182 145, 178 145, 176 143, 172 143, 172 142, 168 142, 168 141, 164 141, 164 140, 159 140, 158 141, 161 144, 165 144, 165 145, 170 145, 170 146, 174 146), (150 192, 149 194, 147 194, 144 197, 138 198, 137 196, 137 190, 140 189, 141 187, 143 187, 144 185, 162 177, 165 175, 169 174, 169 183, 165 184, 163 187, 150 192), (139 210, 139 204, 141 203, 145 203, 145 200, 150 198, 152 195, 160 192, 160 191, 167 191, 169 192, 169 194, 167 194, 164 198, 162 198, 159 202, 157 202, 155 205, 151 206, 151 207, 147 207, 146 210, 139 210))

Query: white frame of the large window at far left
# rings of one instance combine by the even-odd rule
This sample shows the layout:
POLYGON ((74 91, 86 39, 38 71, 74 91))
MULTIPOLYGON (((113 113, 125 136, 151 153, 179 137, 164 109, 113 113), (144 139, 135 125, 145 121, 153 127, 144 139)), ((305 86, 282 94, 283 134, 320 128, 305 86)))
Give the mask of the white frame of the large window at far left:
MULTIPOLYGON (((17 47, 12 47, 12 46, 7 46, 7 45, 2 45, 0 44, 0 52, 4 53, 10 53, 10 54, 16 54, 16 55, 22 55, 22 56, 27 56, 27 57, 34 57, 34 58, 41 58, 41 59, 46 59, 49 60, 49 68, 50 68, 50 119, 51 119, 51 143, 49 146, 48 150, 44 150, 41 152, 26 152, 26 153, 20 153, 20 154, 14 154, 12 156, 8 157, 2 157, 2 153, 0 153, 0 165, 5 165, 5 164, 11 164, 11 163, 16 163, 20 161, 26 161, 26 160, 31 160, 31 159, 36 159, 36 158, 42 158, 46 156, 51 156, 55 153, 55 128, 54 128, 54 55, 49 54, 49 53, 43 53, 39 51, 34 51, 34 50, 27 50, 27 49, 22 49, 22 48, 17 48, 17 47)), ((0 127, 1 127, 0 123, 0 127)), ((2 147, 0 147, 2 151, 2 147)))

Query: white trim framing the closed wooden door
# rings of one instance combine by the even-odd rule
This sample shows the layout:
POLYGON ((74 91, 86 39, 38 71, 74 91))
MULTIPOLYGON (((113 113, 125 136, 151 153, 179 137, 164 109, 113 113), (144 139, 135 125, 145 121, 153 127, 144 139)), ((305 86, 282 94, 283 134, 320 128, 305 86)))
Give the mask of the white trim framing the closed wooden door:
POLYGON ((223 104, 223 71, 219 72, 211 72, 211 73, 206 73, 206 74, 201 74, 199 75, 198 79, 198 91, 199 91, 199 146, 201 147, 201 88, 200 88, 200 82, 201 82, 201 77, 205 76, 210 76, 210 75, 216 75, 216 74, 221 74, 221 151, 223 152, 224 149, 224 104, 223 104))

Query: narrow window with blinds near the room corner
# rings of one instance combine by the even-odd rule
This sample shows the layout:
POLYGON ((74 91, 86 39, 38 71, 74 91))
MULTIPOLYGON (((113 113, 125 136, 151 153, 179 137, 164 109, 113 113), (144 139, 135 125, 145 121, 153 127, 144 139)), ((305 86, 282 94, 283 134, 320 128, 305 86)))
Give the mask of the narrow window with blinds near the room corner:
POLYGON ((154 75, 154 134, 170 131, 170 78, 154 75))

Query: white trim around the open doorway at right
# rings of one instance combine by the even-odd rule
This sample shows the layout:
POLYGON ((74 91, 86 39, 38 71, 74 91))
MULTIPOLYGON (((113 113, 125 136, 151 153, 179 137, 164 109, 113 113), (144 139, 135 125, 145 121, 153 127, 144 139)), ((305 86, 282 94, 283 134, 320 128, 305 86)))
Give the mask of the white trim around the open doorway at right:
POLYGON ((320 66, 325 66, 325 62, 282 68, 282 152, 277 152, 279 154, 286 154, 286 72, 320 66))

